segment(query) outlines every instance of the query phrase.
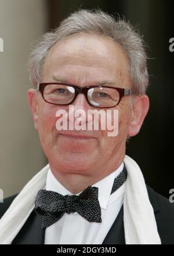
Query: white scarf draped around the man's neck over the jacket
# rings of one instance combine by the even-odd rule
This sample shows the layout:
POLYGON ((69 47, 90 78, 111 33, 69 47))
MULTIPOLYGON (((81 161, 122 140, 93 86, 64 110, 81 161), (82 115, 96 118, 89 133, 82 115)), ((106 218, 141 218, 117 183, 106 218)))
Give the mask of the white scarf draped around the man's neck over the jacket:
MULTIPOLYGON (((125 155, 128 173, 124 194, 124 229, 126 244, 161 244, 153 207, 139 165, 125 155)), ((21 190, 0 220, 0 244, 11 244, 34 209, 39 189, 45 189, 49 164, 21 190)))

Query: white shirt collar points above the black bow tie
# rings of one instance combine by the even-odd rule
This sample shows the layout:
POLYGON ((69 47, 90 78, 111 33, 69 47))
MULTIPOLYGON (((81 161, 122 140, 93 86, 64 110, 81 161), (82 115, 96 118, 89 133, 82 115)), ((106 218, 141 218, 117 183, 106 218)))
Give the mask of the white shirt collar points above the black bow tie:
MULTIPOLYGON (((115 170, 111 174, 107 175, 106 177, 92 185, 99 189, 98 199, 101 208, 107 208, 107 204, 110 199, 111 189, 113 188, 114 179, 121 173, 123 168, 124 163, 122 162, 121 165, 117 168, 117 170, 115 170)), ((65 196, 66 194, 73 195, 73 193, 71 193, 68 189, 61 185, 61 183, 53 175, 50 168, 48 170, 48 174, 46 177, 46 190, 52 190, 54 192, 62 194, 63 196, 65 196)), ((76 195, 78 196, 81 192, 77 193, 76 195)))

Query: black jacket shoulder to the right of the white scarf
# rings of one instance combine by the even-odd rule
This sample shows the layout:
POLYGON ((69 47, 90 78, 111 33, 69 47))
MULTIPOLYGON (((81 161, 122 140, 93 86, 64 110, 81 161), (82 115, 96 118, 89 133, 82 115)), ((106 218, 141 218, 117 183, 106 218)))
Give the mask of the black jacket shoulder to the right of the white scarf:
POLYGON ((174 244, 174 203, 147 186, 162 244, 174 244))

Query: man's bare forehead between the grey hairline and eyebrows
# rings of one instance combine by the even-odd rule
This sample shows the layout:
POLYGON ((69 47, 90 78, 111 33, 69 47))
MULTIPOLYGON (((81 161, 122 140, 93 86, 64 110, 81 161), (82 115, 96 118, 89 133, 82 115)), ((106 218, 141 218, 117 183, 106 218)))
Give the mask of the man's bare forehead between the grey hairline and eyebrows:
MULTIPOLYGON (((57 42, 45 59, 45 71, 73 66, 105 68, 117 75, 129 74, 128 59, 122 46, 107 38, 69 38, 57 42)), ((43 70, 43 71, 44 71, 43 70)))

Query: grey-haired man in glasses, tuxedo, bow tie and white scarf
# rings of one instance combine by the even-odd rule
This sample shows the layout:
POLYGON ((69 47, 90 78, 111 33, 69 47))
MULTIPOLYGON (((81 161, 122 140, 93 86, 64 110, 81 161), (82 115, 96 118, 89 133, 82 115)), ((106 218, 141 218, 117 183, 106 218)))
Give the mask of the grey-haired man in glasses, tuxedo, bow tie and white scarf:
POLYGON ((28 63, 28 103, 49 164, 1 204, 0 243, 174 243, 173 205, 125 155, 149 107, 140 36, 100 10, 79 10, 44 35, 28 63), (99 129, 84 129, 96 122, 89 110, 106 114, 99 129), (75 111, 86 114, 83 129, 75 111), (118 134, 108 136, 102 124, 115 113, 118 134))

